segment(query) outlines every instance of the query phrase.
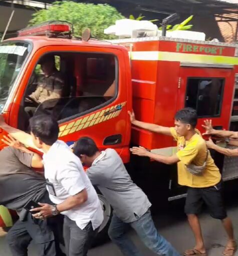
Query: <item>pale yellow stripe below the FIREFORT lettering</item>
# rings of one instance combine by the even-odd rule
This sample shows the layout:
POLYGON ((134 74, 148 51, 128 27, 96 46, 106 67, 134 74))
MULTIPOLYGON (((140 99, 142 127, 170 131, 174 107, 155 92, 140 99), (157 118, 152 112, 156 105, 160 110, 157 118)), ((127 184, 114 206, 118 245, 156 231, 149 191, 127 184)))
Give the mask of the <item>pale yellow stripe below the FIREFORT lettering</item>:
POLYGON ((229 56, 162 51, 134 51, 130 52, 130 56, 132 60, 164 60, 199 64, 238 65, 238 57, 229 56))

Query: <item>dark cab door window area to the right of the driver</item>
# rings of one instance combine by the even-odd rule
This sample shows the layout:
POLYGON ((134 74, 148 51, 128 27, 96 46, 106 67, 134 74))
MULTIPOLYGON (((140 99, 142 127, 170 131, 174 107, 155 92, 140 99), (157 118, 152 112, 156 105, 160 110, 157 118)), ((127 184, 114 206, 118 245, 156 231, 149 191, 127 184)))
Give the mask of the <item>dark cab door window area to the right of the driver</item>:
POLYGON ((116 97, 117 65, 114 55, 60 53, 58 62, 65 77, 64 87, 69 92, 54 100, 54 105, 52 99, 42 102, 34 115, 50 114, 58 121, 70 119, 107 105, 116 97))

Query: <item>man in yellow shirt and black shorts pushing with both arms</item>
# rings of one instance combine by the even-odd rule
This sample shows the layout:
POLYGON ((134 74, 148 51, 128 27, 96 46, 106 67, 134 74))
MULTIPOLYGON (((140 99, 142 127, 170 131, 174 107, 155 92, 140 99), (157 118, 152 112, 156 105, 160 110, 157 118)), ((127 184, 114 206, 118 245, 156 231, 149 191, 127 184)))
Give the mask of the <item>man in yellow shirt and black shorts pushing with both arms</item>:
POLYGON ((178 184, 188 187, 184 209, 196 241, 194 248, 186 250, 184 255, 206 255, 197 217, 202 204, 205 203, 209 208, 211 217, 221 220, 228 236, 222 255, 232 256, 236 250, 236 243, 232 222, 227 217, 221 195, 221 175, 210 156, 205 140, 201 137, 200 132, 195 129, 197 124, 196 111, 191 108, 179 110, 174 117, 175 127, 171 128, 137 121, 133 112, 129 112, 129 115, 133 125, 151 132, 173 136, 177 141, 178 152, 172 156, 154 154, 143 147, 133 147, 130 150, 133 154, 148 156, 165 164, 177 163, 178 184), (193 174, 194 169, 200 169, 200 173, 198 175, 193 174))

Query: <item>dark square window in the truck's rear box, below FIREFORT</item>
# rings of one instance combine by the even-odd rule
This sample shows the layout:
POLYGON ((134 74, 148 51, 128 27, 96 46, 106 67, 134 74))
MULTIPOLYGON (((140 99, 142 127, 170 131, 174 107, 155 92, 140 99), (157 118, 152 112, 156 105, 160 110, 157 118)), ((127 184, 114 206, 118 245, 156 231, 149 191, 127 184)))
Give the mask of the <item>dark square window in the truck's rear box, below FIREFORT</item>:
POLYGON ((185 107, 197 111, 198 117, 220 115, 224 79, 188 78, 185 107))

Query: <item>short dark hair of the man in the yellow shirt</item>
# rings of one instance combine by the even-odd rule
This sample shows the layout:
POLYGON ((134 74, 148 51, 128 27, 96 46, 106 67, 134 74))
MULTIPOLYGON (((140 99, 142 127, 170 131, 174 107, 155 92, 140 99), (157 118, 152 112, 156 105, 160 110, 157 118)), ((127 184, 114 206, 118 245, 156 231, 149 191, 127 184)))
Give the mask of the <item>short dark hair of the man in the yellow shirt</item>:
POLYGON ((192 128, 197 125, 197 112, 193 108, 180 109, 174 117, 175 120, 184 124, 190 124, 192 128))

